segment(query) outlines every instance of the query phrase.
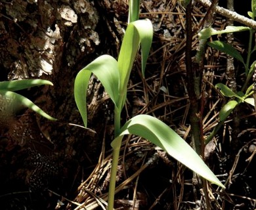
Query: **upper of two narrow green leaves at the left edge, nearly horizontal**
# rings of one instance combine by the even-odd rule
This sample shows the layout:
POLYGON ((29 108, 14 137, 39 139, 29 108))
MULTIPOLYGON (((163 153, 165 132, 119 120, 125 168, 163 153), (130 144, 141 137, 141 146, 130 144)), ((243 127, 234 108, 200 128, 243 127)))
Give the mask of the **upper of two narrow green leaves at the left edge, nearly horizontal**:
POLYGON ((51 81, 44 79, 21 79, 13 81, 1 81, 1 91, 20 91, 22 89, 28 89, 39 85, 53 85, 51 81))

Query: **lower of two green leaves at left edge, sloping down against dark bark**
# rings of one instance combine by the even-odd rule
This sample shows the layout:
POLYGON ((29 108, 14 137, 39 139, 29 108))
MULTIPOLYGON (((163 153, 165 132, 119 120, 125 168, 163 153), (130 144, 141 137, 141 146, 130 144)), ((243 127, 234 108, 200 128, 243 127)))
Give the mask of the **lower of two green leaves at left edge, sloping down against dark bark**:
POLYGON ((7 107, 8 110, 6 110, 7 112, 16 112, 22 107, 27 107, 47 119, 57 120, 54 117, 51 117, 43 112, 43 110, 36 106, 31 100, 22 95, 19 95, 18 93, 14 93, 11 91, 0 91, 0 95, 4 96, 7 99, 7 102, 10 102, 9 107, 7 107))

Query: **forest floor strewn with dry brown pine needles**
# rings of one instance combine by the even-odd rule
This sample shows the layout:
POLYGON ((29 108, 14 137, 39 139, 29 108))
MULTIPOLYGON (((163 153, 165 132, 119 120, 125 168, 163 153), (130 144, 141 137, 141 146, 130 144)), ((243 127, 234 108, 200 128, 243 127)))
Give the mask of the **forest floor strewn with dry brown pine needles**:
MULTIPOLYGON (((108 32, 113 35, 112 40, 121 41, 123 32, 120 28, 125 28, 127 5, 118 2, 109 7, 107 15, 113 17, 113 22, 107 23, 108 32)), ((152 21, 154 40, 146 66, 146 83, 142 83, 140 56, 137 56, 129 82, 123 121, 137 114, 150 114, 161 119, 190 144, 184 8, 174 0, 143 1, 141 8, 140 18, 152 21)), ((200 24, 204 14, 205 8, 200 5, 194 7, 193 28, 200 24)), ((217 15, 213 27, 223 29, 225 26, 226 20, 217 15)), ((241 37, 245 35, 239 33, 233 43, 243 56, 246 56, 247 43, 241 37)), ((224 40, 225 36, 213 39, 224 40)), ((194 36, 194 52, 197 46, 198 37, 194 36)), ((115 55, 119 47, 119 44, 113 44, 109 53, 115 55)), ((236 60, 234 62, 237 89, 240 90, 244 83, 244 69, 242 64, 236 60)), ((218 113, 228 100, 215 89, 215 85, 226 84, 226 81, 226 54, 208 47, 205 51, 201 108, 205 136, 217 125, 218 113)), ((100 100, 102 98, 98 98, 100 100)), ((110 112, 112 105, 107 96, 104 103, 108 105, 106 111, 110 112)), ((9 133, 5 133, 0 144, 1 209, 104 209, 112 161, 110 142, 113 121, 108 112, 106 116, 109 120, 104 125, 104 133, 98 143, 101 150, 95 157, 88 157, 83 152, 87 146, 85 142, 79 144, 81 148, 75 156, 77 159, 63 159, 55 163, 48 156, 28 148, 17 149, 7 142, 9 133), (20 154, 16 154, 17 150, 21 151, 20 154), (30 158, 23 158, 24 153, 30 153, 30 158), (26 166, 24 169, 15 165, 16 159, 22 158, 26 166), (30 174, 24 173, 24 170, 30 171, 30 174), (26 184, 20 184, 24 180, 30 183, 30 190, 26 184), (37 186, 45 188, 42 190, 37 186)), ((95 120, 102 119, 98 116, 95 120)), ((256 208, 255 125, 253 106, 241 104, 205 146, 205 163, 226 186, 223 190, 208 185, 207 198, 211 209, 256 208)), ((192 182, 192 172, 147 140, 133 136, 123 140, 119 162, 116 209, 206 209, 202 186, 192 182)))

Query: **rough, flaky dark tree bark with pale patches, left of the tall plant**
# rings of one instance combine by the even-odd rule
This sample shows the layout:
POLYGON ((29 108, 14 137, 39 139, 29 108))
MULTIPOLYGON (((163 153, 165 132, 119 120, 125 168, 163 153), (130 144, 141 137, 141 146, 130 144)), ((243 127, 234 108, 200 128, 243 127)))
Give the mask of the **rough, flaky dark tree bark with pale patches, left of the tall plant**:
MULTIPOLYGON (((74 79, 96 57, 95 48, 100 45, 95 30, 98 21, 92 1, 1 1, 0 79, 52 81, 54 87, 32 88, 22 95, 58 119, 47 121, 26 110, 12 121, 0 142, 0 178, 5 182, 1 194, 7 193, 4 188, 10 192, 20 190, 10 184, 13 180, 20 180, 19 184, 30 190, 41 191, 58 178, 54 187, 63 190, 60 186, 66 183, 65 187, 71 188, 79 163, 91 165, 96 161, 101 148, 98 135, 68 123, 82 125, 74 101, 74 79)), ((95 91, 100 95, 102 90, 96 79, 92 79, 90 90, 91 101, 98 100, 95 91)), ((104 100, 89 106, 93 112, 89 126, 97 133, 102 133, 105 125, 103 103, 104 100), (102 121, 93 122, 97 115, 102 116, 102 121)))

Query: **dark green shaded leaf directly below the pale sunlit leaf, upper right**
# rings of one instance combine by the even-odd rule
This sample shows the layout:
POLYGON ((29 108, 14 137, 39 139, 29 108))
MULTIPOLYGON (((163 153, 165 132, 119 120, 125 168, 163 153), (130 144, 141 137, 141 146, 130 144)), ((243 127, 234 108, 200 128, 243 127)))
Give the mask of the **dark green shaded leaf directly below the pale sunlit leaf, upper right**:
POLYGON ((242 55, 238 53, 238 51, 232 45, 224 43, 223 41, 211 41, 208 42, 207 45, 213 47, 214 49, 217 49, 218 51, 229 54, 230 56, 236 58, 244 64, 244 59, 242 55))

